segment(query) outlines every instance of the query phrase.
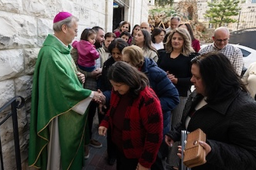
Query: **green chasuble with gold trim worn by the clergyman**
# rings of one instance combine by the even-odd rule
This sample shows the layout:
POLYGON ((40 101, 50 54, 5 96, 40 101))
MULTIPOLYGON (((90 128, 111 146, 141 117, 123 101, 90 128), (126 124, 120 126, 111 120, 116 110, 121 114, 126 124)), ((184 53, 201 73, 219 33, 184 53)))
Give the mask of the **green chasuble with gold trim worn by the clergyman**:
POLYGON ((64 46, 48 35, 36 60, 33 75, 30 115, 29 166, 47 168, 49 124, 58 117, 62 169, 80 170, 84 162, 85 121, 87 114, 71 110, 92 93, 76 75, 70 55, 71 46, 64 46))

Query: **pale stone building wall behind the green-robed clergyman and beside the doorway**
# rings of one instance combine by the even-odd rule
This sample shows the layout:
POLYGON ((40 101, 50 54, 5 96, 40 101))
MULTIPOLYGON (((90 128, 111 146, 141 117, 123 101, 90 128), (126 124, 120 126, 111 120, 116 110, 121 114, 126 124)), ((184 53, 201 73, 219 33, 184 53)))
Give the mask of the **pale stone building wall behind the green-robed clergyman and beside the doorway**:
MULTIPOLYGON (((133 22, 147 20, 148 1, 130 2, 130 8, 126 8, 126 19, 133 22), (140 8, 134 8, 135 2, 140 2, 140 8)), ((53 33, 54 15, 68 11, 77 16, 80 21, 76 39, 79 39, 82 30, 87 27, 102 26, 106 32, 112 31, 112 3, 112 0, 0 1, 0 107, 16 95, 26 100, 25 107, 18 110, 22 169, 29 169, 27 158, 33 70, 44 39, 48 33, 53 33)), ((9 111, 10 108, 0 114, 0 121, 9 111)), ((5 169, 16 169, 11 119, 2 124, 0 130, 5 169)))

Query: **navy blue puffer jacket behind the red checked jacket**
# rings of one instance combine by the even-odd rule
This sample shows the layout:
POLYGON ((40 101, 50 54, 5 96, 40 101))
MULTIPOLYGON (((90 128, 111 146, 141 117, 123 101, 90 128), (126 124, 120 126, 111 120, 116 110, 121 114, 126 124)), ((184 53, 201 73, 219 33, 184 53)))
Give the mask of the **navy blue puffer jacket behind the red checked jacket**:
POLYGON ((157 66, 153 59, 145 58, 144 65, 140 71, 145 73, 150 80, 150 87, 157 94, 161 101, 161 109, 164 119, 164 131, 166 134, 170 131, 171 126, 171 110, 179 103, 178 90, 175 85, 168 79, 167 73, 157 66))

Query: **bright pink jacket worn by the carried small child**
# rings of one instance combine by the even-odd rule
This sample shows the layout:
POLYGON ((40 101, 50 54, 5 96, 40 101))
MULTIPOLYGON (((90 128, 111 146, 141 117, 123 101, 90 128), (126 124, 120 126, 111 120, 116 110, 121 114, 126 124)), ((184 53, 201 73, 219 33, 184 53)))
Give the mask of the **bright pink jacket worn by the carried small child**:
POLYGON ((95 59, 99 58, 99 53, 94 45, 88 41, 81 40, 80 42, 74 41, 72 46, 78 49, 78 64, 80 66, 95 66, 95 59))

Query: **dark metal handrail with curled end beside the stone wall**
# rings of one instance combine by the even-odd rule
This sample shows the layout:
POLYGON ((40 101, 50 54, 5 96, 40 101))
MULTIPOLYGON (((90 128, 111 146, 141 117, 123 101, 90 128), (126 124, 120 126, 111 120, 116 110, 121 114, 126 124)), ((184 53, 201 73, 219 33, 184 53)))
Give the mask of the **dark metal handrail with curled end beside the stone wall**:
MULTIPOLYGON (((22 170, 21 168, 21 158, 20 158, 20 149, 19 149, 19 128, 18 128, 18 118, 17 118, 17 109, 23 107, 25 104, 25 100, 21 96, 13 97, 9 102, 3 105, 0 108, 0 114, 2 113, 5 108, 11 105, 12 111, 7 114, 7 116, 0 122, 0 126, 5 123, 12 116, 12 126, 13 126, 13 138, 14 138, 14 146, 15 146, 15 153, 16 153, 16 169, 22 170)), ((2 156, 2 142, 0 136, 0 169, 4 170, 4 162, 2 156)))

